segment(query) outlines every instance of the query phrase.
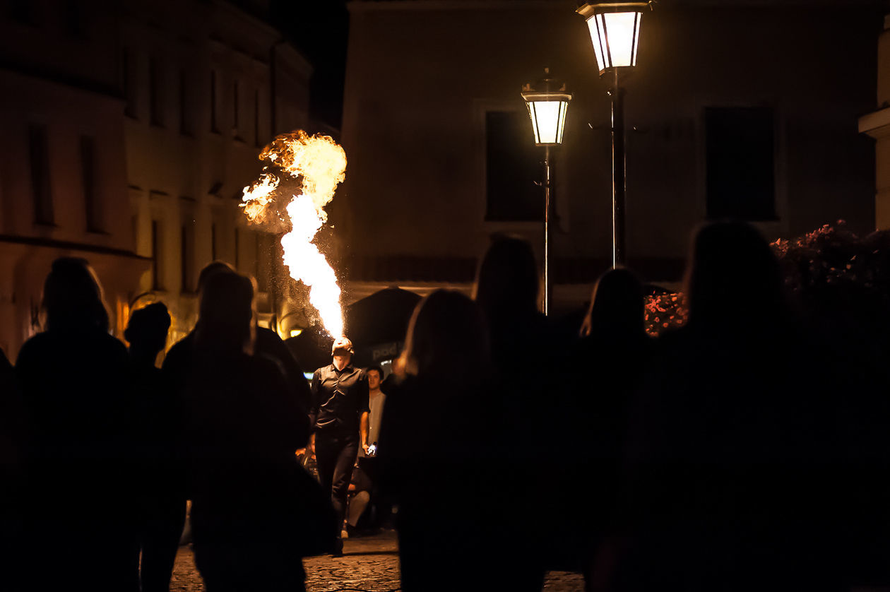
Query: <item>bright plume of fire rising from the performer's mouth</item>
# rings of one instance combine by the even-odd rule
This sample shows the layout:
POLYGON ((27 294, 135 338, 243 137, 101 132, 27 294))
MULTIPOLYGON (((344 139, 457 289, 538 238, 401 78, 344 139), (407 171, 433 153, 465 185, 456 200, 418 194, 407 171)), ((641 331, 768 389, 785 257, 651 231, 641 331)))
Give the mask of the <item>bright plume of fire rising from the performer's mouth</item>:
POLYGON ((346 153, 329 136, 310 136, 298 130, 276 137, 259 158, 269 160, 266 169, 274 167, 279 175, 264 173, 246 187, 241 207, 248 221, 263 223, 272 211, 280 212, 285 205, 277 204, 275 198, 276 192, 282 193, 281 178, 295 180, 296 191, 287 191, 291 195, 284 208, 290 227, 281 238, 284 264, 290 277, 310 288, 309 301, 318 310, 328 333, 340 337, 344 326, 340 287, 334 270, 312 240, 328 221, 324 207, 334 199, 336 186, 345 178, 346 153))

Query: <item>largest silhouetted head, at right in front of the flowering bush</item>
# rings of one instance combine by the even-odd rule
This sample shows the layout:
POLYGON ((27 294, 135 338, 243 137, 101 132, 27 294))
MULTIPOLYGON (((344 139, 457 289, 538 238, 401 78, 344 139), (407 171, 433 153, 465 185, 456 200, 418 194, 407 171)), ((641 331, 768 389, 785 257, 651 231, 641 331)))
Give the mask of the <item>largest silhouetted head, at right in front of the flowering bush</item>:
POLYGON ((779 263, 766 239, 741 222, 709 223, 692 241, 685 292, 689 322, 756 326, 784 310, 779 263))

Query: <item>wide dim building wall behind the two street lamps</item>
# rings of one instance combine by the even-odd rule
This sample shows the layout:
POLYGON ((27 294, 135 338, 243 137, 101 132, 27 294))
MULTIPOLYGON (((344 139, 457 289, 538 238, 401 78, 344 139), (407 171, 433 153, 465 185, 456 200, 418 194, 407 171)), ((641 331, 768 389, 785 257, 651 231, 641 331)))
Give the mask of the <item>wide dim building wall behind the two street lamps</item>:
MULTIPOLYGON (((769 239, 843 218, 874 228, 879 3, 662 2, 626 77, 628 263, 676 281, 688 239, 724 216, 769 239)), ((611 264, 608 83, 569 0, 349 4, 337 227, 352 285, 467 287, 490 235, 541 255, 543 173, 524 83, 549 67, 574 94, 554 154, 558 312, 611 264), (410 48, 410 51, 405 51, 410 48)))

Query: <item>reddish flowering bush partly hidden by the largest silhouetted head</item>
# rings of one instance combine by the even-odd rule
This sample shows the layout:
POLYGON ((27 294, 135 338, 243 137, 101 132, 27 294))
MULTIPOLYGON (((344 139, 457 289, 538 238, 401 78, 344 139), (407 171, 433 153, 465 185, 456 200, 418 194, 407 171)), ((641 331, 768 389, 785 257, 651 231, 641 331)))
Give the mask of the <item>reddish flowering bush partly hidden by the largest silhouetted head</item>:
MULTIPOLYGON (((797 239, 778 239, 771 247, 786 288, 805 314, 890 310, 890 231, 860 239, 838 220, 797 239)), ((682 293, 646 298, 650 335, 681 327, 685 320, 682 293)))

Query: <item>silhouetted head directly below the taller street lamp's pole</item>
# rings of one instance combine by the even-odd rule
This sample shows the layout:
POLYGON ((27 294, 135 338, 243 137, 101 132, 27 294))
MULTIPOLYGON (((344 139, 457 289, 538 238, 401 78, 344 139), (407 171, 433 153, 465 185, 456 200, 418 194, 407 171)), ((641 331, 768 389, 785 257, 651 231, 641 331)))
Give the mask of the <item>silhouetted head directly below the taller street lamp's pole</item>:
POLYGON ((643 328, 643 285, 634 272, 612 269, 596 280, 583 333, 641 335, 643 328))

